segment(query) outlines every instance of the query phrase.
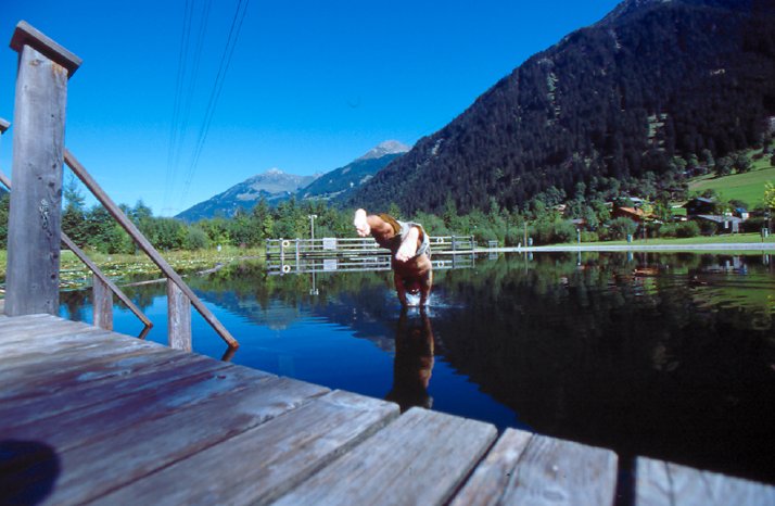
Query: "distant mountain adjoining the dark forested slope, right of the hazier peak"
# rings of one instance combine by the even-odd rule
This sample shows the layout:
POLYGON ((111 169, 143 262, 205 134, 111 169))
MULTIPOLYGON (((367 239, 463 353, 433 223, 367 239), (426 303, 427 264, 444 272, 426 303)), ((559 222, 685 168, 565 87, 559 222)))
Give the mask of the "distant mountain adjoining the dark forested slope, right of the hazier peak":
POLYGON ((344 167, 320 176, 298 194, 304 199, 342 199, 373 177, 390 162, 409 151, 409 147, 396 140, 386 140, 344 167))

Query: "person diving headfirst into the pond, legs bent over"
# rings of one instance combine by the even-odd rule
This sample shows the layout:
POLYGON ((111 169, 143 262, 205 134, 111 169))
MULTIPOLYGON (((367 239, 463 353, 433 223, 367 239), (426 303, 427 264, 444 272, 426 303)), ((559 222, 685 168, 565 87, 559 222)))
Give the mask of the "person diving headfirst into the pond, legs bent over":
POLYGON ((398 300, 407 306, 407 292, 420 294, 420 305, 428 304, 433 284, 431 248, 428 233, 422 225, 398 222, 387 214, 367 215, 366 211, 355 212, 353 220, 358 236, 371 235, 377 243, 391 251, 393 282, 398 300))

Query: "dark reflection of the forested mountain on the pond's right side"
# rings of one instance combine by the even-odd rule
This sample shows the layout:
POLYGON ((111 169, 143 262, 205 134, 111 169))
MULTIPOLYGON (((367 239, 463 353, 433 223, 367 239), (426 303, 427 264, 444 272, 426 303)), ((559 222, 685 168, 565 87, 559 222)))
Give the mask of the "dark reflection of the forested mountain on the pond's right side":
POLYGON ((754 330, 751 307, 698 303, 675 256, 622 258, 450 273, 444 290, 466 306, 434 318, 446 358, 539 432, 775 479, 772 312, 754 330))

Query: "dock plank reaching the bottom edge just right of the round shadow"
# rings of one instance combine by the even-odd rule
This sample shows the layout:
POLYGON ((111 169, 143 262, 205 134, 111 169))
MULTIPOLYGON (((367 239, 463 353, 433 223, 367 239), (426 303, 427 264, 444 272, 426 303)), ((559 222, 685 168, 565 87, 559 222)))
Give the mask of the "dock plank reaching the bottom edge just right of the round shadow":
MULTIPOLYGON (((55 489, 42 504, 93 499, 295 409, 326 392, 322 387, 279 378, 242 390, 240 395, 221 395, 170 416, 125 428, 98 442, 56 452, 60 475, 55 489)), ((46 458, 47 455, 42 452, 36 457, 46 458)), ((29 460, 34 459, 27 457, 24 465, 35 464, 29 460)), ((11 467, 15 464, 11 463, 11 467)))

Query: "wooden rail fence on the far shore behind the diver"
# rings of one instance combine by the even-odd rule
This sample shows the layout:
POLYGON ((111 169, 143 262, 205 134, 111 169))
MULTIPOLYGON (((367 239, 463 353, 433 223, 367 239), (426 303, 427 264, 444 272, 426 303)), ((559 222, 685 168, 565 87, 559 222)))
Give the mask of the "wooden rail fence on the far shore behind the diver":
MULTIPOLYGON (((429 237, 431 251, 434 255, 472 252, 477 246, 472 236, 440 236, 429 237)), ((267 239, 266 257, 301 258, 306 256, 340 256, 340 255, 376 255, 387 250, 377 244, 372 238, 335 238, 320 239, 267 239)))

